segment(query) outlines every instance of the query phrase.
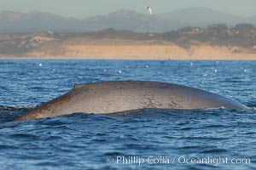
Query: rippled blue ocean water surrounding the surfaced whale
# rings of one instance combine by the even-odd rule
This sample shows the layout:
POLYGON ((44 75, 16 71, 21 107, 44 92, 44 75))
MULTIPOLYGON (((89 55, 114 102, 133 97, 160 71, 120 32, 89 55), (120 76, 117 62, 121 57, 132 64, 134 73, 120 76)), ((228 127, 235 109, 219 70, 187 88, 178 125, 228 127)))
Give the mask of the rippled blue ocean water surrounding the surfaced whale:
POLYGON ((74 83, 174 82, 256 107, 255 61, 0 60, 1 169, 255 169, 256 111, 15 117, 74 83))

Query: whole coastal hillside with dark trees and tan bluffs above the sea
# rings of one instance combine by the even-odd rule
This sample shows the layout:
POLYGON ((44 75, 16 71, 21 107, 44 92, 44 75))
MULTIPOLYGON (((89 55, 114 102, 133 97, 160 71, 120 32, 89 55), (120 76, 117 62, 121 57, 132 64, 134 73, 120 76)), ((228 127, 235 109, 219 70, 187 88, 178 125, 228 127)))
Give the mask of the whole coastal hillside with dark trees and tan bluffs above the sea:
POLYGON ((0 34, 1 58, 256 59, 256 27, 212 25, 165 33, 103 31, 0 34))

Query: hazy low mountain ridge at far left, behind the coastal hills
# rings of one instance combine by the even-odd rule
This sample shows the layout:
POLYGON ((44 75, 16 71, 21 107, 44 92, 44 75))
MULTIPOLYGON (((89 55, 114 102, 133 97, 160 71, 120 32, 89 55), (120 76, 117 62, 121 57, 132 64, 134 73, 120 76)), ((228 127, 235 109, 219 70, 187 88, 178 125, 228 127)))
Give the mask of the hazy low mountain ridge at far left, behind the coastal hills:
POLYGON ((27 14, 13 11, 0 13, 1 32, 34 31, 79 31, 80 20, 64 18, 56 14, 30 12, 27 14))

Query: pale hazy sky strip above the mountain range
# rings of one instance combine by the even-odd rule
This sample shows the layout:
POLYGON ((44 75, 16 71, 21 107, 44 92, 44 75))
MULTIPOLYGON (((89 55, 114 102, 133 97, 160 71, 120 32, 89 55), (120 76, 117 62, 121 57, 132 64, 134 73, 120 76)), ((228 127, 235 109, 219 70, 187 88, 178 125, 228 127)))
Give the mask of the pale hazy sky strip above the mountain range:
POLYGON ((108 14, 119 8, 130 8, 143 13, 146 12, 147 6, 151 6, 154 13, 207 7, 238 16, 256 14, 256 0, 0 0, 0 11, 37 10, 79 19, 96 14, 108 14))

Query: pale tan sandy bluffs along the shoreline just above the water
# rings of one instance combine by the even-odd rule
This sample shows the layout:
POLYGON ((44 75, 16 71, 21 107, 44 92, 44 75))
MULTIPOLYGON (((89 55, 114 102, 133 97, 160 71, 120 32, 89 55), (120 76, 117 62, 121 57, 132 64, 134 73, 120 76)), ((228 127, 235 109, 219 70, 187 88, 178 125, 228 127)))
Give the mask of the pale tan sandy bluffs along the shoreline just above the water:
POLYGON ((0 59, 191 59, 191 60, 256 60, 256 53, 236 52, 236 47, 177 45, 68 45, 65 53, 1 54, 0 59))

